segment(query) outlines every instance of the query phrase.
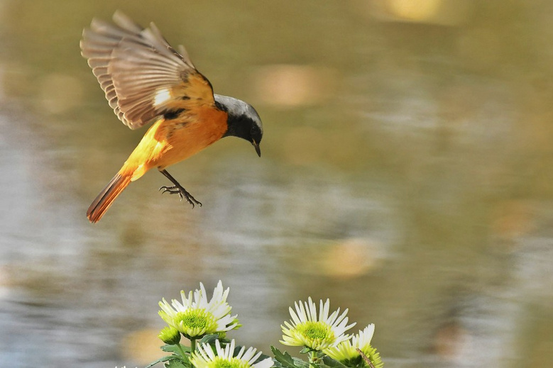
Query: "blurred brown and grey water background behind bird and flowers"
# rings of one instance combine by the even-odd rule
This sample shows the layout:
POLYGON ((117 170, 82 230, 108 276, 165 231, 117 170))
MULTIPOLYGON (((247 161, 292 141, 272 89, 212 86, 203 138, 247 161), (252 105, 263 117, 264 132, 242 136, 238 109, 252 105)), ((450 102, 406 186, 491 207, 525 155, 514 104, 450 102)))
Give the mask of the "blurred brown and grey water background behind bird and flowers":
POLYGON ((143 367, 158 301, 221 279, 230 337, 264 352, 312 296, 376 323, 386 367, 551 367, 552 20, 540 0, 0 0, 2 365, 143 367), (91 225, 146 132, 80 56, 116 9, 265 138, 170 168, 202 208, 152 171, 91 225))

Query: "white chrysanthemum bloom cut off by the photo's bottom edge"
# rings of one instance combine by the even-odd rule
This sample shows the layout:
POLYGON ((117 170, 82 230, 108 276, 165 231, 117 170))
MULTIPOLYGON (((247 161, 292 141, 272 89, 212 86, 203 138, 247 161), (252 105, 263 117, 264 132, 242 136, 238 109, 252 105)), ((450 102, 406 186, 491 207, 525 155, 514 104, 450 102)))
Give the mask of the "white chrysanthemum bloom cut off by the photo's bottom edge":
POLYGON ((208 344, 199 345, 196 352, 192 353, 190 362, 196 368, 270 368, 273 367, 273 359, 267 358, 257 362, 261 352, 256 354, 256 349, 242 347, 234 356, 234 340, 222 348, 219 340, 215 341, 215 350, 208 344))

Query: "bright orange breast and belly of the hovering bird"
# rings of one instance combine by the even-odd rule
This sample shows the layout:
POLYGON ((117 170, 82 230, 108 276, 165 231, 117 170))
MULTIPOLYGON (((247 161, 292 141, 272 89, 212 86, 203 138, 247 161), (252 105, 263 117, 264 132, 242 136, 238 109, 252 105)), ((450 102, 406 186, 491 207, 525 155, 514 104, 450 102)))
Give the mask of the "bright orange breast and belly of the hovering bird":
POLYGON ((227 114, 211 106, 183 111, 175 118, 161 118, 148 129, 128 157, 121 172, 132 175, 132 181, 148 169, 164 169, 195 155, 221 139, 227 129, 227 114))

